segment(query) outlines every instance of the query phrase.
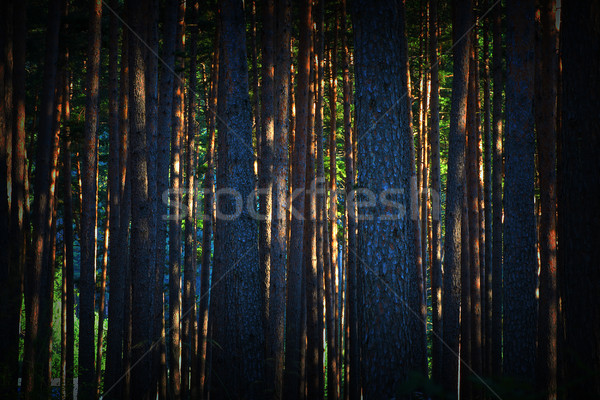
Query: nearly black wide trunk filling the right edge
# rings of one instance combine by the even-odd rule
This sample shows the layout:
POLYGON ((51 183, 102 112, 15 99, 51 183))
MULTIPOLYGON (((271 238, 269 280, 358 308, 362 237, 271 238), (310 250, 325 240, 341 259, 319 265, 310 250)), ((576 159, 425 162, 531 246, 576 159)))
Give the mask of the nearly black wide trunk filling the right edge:
POLYGON ((561 14, 558 265, 565 318, 564 383, 567 398, 593 398, 600 396, 600 9, 597 3, 565 3, 561 14))

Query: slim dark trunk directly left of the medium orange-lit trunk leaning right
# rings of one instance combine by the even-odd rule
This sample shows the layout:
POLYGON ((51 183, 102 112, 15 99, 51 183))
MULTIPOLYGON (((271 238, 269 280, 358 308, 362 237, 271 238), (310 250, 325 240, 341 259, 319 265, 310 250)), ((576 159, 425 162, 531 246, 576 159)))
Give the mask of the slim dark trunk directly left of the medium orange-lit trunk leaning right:
POLYGON ((440 178, 440 94, 438 72, 437 0, 429 0, 429 64, 431 65, 431 121, 429 142, 431 146, 431 315, 432 315, 432 379, 441 383, 442 370, 442 223, 440 178))

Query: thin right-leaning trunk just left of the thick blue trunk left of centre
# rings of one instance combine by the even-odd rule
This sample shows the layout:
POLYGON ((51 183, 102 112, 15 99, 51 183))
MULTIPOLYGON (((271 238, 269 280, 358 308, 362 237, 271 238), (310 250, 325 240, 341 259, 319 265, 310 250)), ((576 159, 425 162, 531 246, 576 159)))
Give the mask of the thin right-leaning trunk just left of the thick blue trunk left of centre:
POLYGON ((198 396, 205 398, 208 388, 208 294, 210 282, 210 258, 212 232, 214 225, 214 186, 215 186, 215 128, 217 121, 217 93, 219 86, 219 27, 214 40, 213 60, 211 69, 211 85, 206 110, 207 143, 206 143, 206 175, 204 176, 204 199, 202 203, 202 266, 200 271, 200 305, 198 309, 199 333, 198 333, 198 396))

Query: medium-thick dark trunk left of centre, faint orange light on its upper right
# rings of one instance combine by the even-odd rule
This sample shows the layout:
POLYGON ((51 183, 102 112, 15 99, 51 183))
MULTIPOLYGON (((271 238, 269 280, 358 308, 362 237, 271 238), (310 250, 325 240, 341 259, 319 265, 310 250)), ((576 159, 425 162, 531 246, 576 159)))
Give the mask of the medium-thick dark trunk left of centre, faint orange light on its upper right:
MULTIPOLYGON (((149 3, 145 4, 150 6, 149 3)), ((143 27, 144 7, 128 4, 134 31, 143 27)), ((143 43, 131 38, 129 43, 130 118, 131 131, 131 242, 129 265, 131 268, 131 393, 140 399, 149 399, 154 390, 151 382, 151 360, 147 356, 152 333, 152 293, 154 276, 154 248, 152 242, 152 200, 149 183, 149 147, 151 137, 147 129, 146 85, 143 43)))

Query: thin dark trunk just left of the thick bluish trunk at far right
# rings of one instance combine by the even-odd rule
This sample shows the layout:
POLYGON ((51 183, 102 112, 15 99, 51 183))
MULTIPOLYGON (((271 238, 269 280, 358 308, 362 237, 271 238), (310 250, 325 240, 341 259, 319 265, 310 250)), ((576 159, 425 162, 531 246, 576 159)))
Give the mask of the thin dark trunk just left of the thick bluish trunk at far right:
POLYGON ((492 375, 502 373, 502 177, 504 160, 502 150, 502 92, 504 72, 502 66, 502 4, 496 5, 493 14, 492 75, 492 375))

